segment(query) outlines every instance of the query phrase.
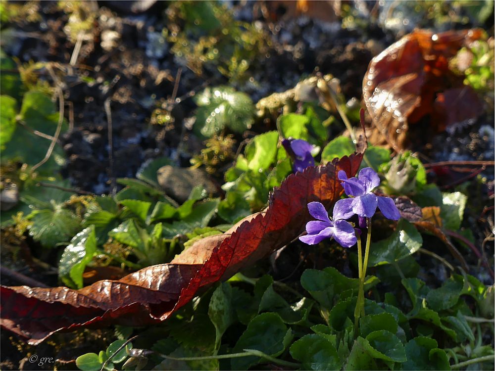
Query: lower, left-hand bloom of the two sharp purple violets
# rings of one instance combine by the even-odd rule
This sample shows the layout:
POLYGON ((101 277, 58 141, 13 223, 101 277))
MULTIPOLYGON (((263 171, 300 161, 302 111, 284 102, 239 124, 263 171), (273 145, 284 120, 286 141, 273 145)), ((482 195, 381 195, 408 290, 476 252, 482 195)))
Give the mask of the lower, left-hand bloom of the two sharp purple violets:
POLYGON ((333 221, 330 220, 325 207, 320 202, 308 203, 308 210, 309 214, 318 220, 306 224, 308 234, 299 237, 302 242, 315 245, 325 238, 332 237, 344 247, 351 247, 357 242, 354 228, 346 220, 340 220, 340 214, 334 214, 333 221))

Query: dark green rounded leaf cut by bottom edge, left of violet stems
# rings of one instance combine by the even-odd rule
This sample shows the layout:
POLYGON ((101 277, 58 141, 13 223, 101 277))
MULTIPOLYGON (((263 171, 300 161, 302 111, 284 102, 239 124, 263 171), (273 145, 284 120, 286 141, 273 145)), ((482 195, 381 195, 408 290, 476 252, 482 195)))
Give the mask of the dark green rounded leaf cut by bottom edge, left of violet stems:
POLYGON ((325 337, 304 335, 292 344, 291 356, 301 362, 302 370, 340 370, 342 362, 337 350, 325 337))

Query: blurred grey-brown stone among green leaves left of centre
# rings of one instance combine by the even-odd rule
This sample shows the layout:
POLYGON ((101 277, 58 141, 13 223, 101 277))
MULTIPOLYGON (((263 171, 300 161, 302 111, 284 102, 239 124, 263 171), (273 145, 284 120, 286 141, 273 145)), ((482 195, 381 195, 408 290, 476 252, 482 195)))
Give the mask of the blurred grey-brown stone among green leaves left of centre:
POLYGON ((209 179, 208 174, 202 169, 180 168, 175 166, 162 166, 156 172, 158 184, 167 195, 180 203, 184 203, 193 188, 197 185, 204 186, 210 195, 216 192, 216 186, 209 179))

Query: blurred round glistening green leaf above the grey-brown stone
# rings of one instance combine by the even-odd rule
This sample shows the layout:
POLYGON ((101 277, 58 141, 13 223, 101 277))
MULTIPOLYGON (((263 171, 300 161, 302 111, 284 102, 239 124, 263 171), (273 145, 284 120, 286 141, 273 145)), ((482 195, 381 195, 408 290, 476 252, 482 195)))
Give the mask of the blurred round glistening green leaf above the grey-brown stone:
POLYGON ((225 127, 236 133, 249 129, 254 121, 254 105, 245 93, 231 87, 206 88, 195 96, 195 129, 210 138, 225 127))

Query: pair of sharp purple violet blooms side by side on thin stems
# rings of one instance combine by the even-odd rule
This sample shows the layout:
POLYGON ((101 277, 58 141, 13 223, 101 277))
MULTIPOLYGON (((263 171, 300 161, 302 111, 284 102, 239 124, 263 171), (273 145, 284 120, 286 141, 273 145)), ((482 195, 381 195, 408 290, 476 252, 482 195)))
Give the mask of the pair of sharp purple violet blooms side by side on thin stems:
POLYGON ((320 202, 308 203, 309 214, 316 221, 306 224, 307 234, 299 237, 308 245, 319 243, 325 238, 334 238, 340 245, 351 247, 357 242, 353 226, 345 219, 357 215, 360 219, 371 218, 378 207, 382 214, 392 220, 398 220, 400 213, 390 197, 375 195, 372 190, 380 185, 378 174, 371 168, 364 168, 358 178, 347 178, 345 171, 338 174, 342 186, 349 198, 337 201, 334 205, 333 219, 328 217, 320 202))

